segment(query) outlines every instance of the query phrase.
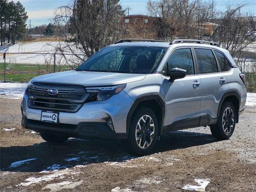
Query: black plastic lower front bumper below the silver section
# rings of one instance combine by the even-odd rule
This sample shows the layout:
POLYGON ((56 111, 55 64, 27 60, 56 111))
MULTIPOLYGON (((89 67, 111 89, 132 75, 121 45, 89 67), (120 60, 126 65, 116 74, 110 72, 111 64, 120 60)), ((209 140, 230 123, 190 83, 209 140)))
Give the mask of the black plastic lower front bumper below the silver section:
POLYGON ((126 139, 127 133, 115 133, 108 124, 102 122, 79 123, 78 125, 71 124, 53 124, 40 122, 37 120, 29 120, 26 116, 22 116, 23 128, 34 130, 40 133, 51 133, 65 135, 74 138, 100 138, 100 139, 126 139))

